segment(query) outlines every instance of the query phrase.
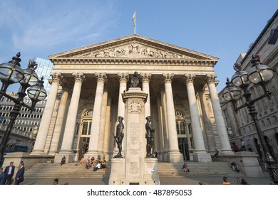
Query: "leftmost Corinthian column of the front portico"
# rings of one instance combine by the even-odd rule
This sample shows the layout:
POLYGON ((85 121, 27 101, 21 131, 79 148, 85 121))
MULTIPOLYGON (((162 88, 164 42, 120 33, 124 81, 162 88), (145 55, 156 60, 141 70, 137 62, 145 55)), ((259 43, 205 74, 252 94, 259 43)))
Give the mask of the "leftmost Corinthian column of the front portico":
POLYGON ((38 129, 34 150, 31 153, 32 155, 44 154, 44 146, 46 144, 46 138, 51 123, 58 87, 61 83, 61 79, 63 78, 61 72, 52 72, 51 76, 51 89, 46 102, 46 107, 44 108, 43 117, 41 118, 41 125, 38 129))

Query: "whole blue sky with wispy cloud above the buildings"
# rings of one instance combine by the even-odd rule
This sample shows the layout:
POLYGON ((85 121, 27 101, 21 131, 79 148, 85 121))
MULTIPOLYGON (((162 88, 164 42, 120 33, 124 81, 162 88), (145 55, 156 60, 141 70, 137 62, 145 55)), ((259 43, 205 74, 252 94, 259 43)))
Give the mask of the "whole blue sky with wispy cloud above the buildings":
MULTIPOLYGON (((28 60, 136 33, 219 58, 217 91, 247 52, 278 0, 0 0, 0 63, 28 60)), ((16 92, 19 85, 8 91, 16 92)))

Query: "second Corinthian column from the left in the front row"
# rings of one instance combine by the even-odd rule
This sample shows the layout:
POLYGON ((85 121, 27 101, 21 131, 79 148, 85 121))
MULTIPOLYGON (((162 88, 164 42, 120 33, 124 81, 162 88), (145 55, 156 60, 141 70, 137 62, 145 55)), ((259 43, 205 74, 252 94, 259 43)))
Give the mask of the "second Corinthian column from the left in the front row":
POLYGON ((81 72, 74 72, 73 77, 75 79, 73 94, 71 97, 71 104, 68 107, 68 117, 66 118, 66 127, 63 134, 63 142, 61 146, 61 151, 59 152, 59 156, 56 156, 58 159, 55 161, 61 161, 61 156, 66 156, 67 161, 73 161, 72 146, 73 146, 73 136, 76 127, 76 116, 78 111, 80 93, 82 82, 85 80, 85 75, 81 72), (71 156, 70 156, 71 154, 71 156))

